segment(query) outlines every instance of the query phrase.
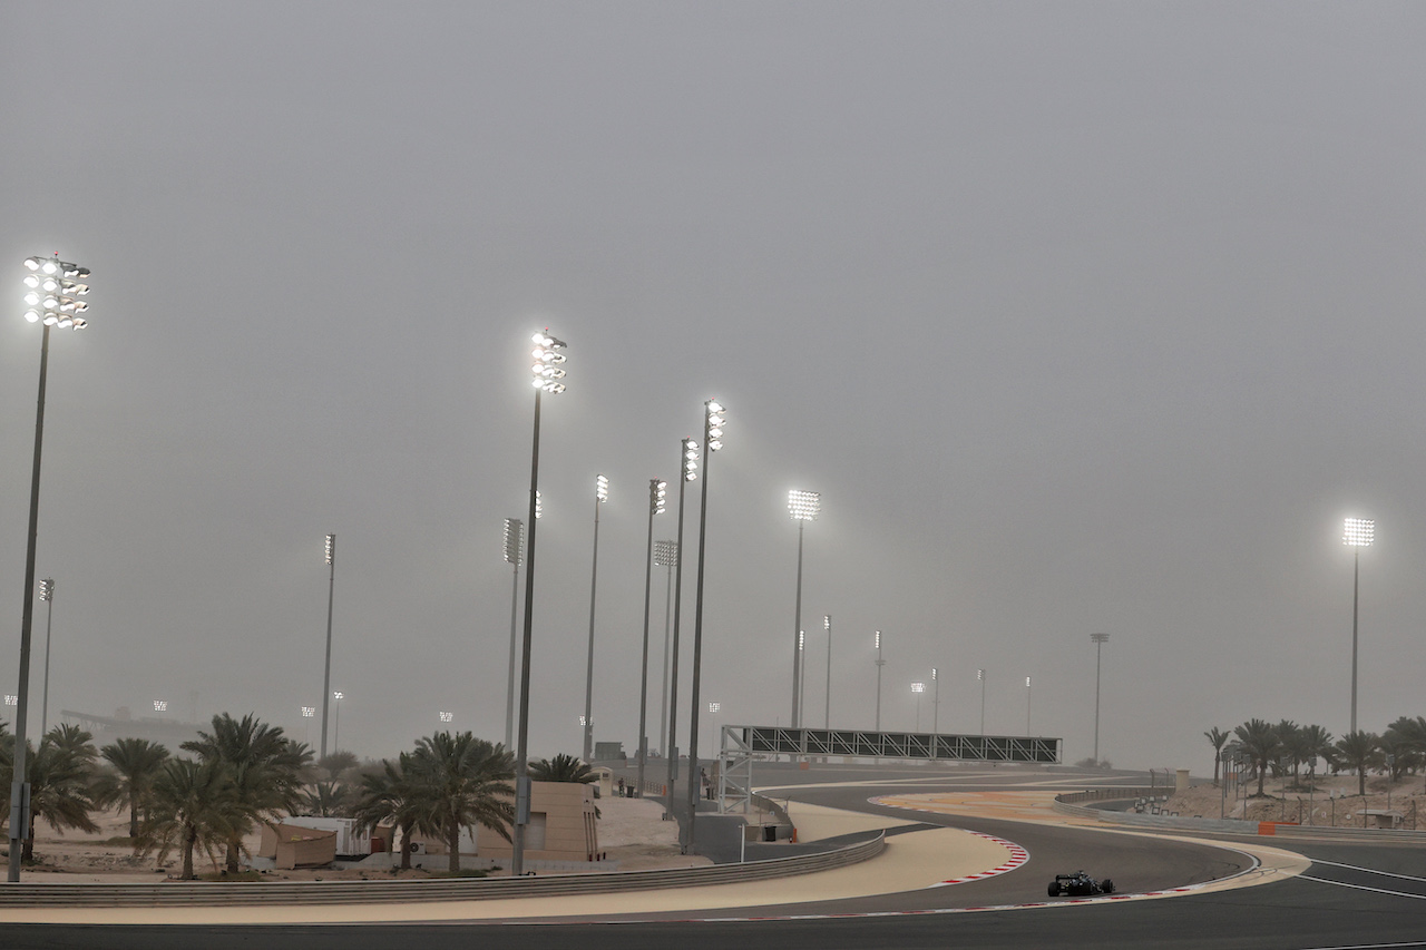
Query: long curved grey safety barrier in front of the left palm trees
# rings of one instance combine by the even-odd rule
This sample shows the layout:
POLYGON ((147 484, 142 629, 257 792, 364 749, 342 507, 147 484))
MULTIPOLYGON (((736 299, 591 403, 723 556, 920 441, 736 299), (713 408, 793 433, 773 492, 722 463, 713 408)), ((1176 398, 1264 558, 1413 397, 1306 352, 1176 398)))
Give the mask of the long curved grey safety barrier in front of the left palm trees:
POLYGON ((234 907, 251 904, 406 904, 455 900, 501 900, 569 894, 609 894, 669 887, 703 887, 811 874, 876 857, 886 849, 883 832, 817 854, 776 857, 746 864, 677 867, 559 877, 485 877, 435 880, 331 880, 143 884, 0 884, 0 907, 234 907))

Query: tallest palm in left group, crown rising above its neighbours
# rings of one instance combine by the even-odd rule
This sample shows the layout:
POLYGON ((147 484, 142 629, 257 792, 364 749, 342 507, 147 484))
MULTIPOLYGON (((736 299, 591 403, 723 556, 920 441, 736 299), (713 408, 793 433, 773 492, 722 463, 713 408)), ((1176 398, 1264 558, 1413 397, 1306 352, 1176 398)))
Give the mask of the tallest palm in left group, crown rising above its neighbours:
POLYGON ((242 836, 254 822, 274 822, 291 814, 302 805, 302 770, 311 763, 312 752, 282 735, 279 726, 270 726, 252 713, 234 719, 228 713, 212 717, 212 732, 200 732, 198 739, 183 743, 208 762, 227 765, 231 770, 232 795, 242 812, 228 832, 227 869, 238 873, 242 836))

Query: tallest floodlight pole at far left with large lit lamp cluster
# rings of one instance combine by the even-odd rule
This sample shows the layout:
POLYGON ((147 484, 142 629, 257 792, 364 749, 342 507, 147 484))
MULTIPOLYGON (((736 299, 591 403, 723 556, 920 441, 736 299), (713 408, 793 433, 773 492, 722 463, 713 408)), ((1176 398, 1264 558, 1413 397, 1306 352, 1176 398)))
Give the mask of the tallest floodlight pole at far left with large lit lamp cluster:
POLYGON ((78 300, 88 294, 88 285, 81 284, 88 277, 87 267, 48 257, 30 257, 24 261, 30 272, 24 277, 29 292, 24 302, 29 310, 24 318, 43 325, 40 334, 40 395, 34 411, 34 466, 30 474, 30 526, 24 551, 24 598, 20 613, 20 689, 14 713, 14 782, 10 786, 10 870, 9 880, 20 880, 20 852, 30 827, 30 783, 26 769, 26 719, 30 698, 30 628, 34 620, 34 555, 40 529, 40 448, 44 442, 44 384, 50 364, 50 327, 60 330, 83 330, 88 325, 84 317, 88 304, 78 300))

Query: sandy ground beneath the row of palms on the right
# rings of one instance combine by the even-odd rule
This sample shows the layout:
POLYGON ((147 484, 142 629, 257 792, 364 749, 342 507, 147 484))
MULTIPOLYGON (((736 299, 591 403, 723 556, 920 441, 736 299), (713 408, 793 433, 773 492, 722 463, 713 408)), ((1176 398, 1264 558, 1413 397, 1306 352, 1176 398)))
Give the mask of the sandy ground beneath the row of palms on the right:
MULTIPOLYGON (((1406 776, 1387 782, 1386 776, 1368 776, 1366 797, 1356 793, 1355 775, 1318 776, 1308 789, 1306 776, 1301 787, 1292 779, 1272 779, 1263 783, 1268 797, 1256 796, 1258 782, 1246 779, 1236 789, 1232 783, 1225 789, 1204 783, 1194 786, 1188 795, 1169 799, 1166 807, 1181 816, 1216 819, 1219 816, 1245 819, 1249 822, 1298 822, 1299 824, 1328 824, 1338 827, 1362 827, 1363 809, 1387 809, 1402 814, 1400 827, 1426 829, 1426 795, 1422 776, 1406 776), (1286 786, 1286 787, 1285 787, 1286 786), (1390 789, 1390 795, 1387 795, 1390 789), (1235 796, 1236 792, 1236 796, 1235 796)), ((1376 819, 1366 817, 1369 827, 1376 827, 1376 819)))

